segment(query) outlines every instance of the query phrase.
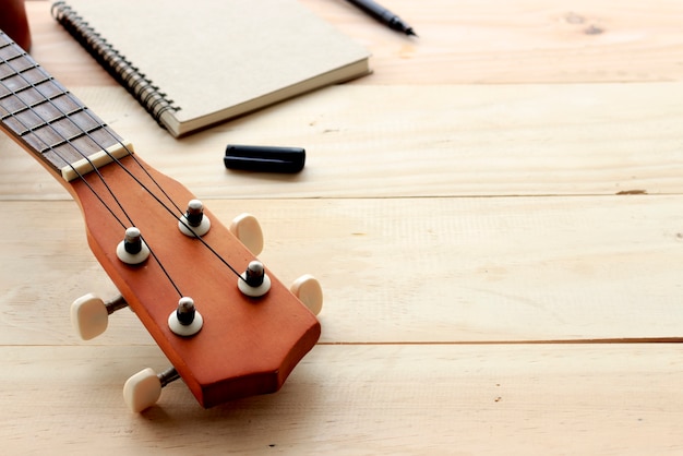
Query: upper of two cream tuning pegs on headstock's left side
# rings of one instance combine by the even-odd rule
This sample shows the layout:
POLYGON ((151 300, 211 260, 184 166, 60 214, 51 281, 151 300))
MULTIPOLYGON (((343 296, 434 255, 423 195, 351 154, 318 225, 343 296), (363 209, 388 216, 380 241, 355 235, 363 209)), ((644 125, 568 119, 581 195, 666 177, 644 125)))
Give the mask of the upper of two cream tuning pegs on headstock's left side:
POLYGON ((89 340, 107 329, 110 314, 125 307, 128 303, 122 296, 105 302, 87 293, 71 304, 71 324, 83 340, 89 340))

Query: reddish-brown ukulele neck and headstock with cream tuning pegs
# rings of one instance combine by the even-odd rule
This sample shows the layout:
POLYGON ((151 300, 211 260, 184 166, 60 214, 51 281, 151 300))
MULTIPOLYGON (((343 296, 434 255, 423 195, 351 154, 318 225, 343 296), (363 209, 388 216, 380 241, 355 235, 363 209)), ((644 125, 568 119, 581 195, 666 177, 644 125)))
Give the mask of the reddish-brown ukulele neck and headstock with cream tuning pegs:
POLYGON ((256 259, 263 235, 253 216, 221 225, 2 32, 0 119, 79 204, 88 245, 121 293, 77 299, 76 332, 93 338, 130 307, 172 364, 129 379, 132 410, 177 379, 205 408, 283 386, 317 343, 322 290, 310 275, 288 289, 256 259))

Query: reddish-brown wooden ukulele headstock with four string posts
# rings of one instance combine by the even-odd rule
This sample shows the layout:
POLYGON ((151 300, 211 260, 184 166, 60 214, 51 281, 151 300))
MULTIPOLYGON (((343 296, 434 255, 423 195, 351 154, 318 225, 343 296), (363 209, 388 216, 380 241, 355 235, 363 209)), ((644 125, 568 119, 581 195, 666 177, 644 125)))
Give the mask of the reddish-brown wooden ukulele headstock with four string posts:
MULTIPOLYGON (((292 292, 264 266, 263 284, 260 271, 248 273, 259 269, 259 252, 232 231, 248 231, 244 238, 251 236, 249 242, 257 247, 253 230, 260 227, 253 217, 241 217, 231 231, 181 184, 133 157, 72 181, 71 189, 95 256, 202 406, 278 391, 316 344, 320 323, 299 299, 309 292, 300 284, 292 292), (157 185, 164 194, 145 190, 157 185), (169 204, 158 200, 191 203, 185 215, 173 218, 169 204), (194 228, 189 224, 193 211, 203 213, 194 228), (103 223, 112 218, 134 220, 135 228, 103 223), (140 242, 142 249, 127 251, 125 244, 140 242), (249 284, 250 274, 252 277, 249 284), (183 305, 192 309, 185 312, 183 305), (183 324, 189 313, 194 319, 183 324)), ((314 311, 320 300, 322 295, 314 297, 314 311)), ((89 317, 87 312, 83 319, 89 317)), ((101 315, 99 311, 97 317, 101 315)))

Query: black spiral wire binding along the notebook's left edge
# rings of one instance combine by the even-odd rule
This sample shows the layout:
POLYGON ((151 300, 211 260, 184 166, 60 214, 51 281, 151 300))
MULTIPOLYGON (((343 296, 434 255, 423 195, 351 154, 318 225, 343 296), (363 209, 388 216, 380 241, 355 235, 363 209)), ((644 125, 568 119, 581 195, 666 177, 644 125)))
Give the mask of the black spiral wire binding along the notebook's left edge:
POLYGON ((107 70, 113 79, 135 97, 143 108, 157 121, 161 123, 161 115, 166 111, 178 111, 179 107, 173 101, 166 98, 166 94, 159 92, 159 87, 154 85, 144 73, 125 59, 105 38, 103 38, 87 22, 64 4, 56 2, 52 4, 51 13, 59 22, 89 53, 97 62, 107 70))

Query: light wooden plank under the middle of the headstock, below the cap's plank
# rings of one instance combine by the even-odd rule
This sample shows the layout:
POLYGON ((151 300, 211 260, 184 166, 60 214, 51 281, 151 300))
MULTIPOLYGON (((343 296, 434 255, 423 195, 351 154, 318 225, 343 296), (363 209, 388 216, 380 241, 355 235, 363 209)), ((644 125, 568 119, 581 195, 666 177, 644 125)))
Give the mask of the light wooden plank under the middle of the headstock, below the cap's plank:
MULTIPOLYGON (((314 274, 325 343, 683 336, 682 196, 208 201, 255 214, 261 259, 314 274)), ((75 204, 2 202, 3 344, 77 344, 68 307, 115 290, 75 204), (57 220, 62 221, 57 221, 57 220), (21 261, 16 261, 21 259, 21 261)), ((151 340, 120 312, 96 344, 151 340)))

